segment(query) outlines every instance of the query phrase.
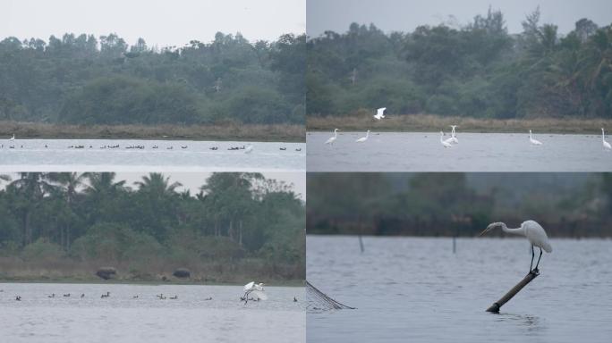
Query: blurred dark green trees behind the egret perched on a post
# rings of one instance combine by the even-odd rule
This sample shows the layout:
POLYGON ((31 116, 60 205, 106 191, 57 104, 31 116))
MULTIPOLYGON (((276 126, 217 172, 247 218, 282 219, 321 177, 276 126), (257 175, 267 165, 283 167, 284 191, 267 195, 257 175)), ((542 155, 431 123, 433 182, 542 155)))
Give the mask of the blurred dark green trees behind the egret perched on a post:
POLYGON ((609 173, 309 173, 307 181, 309 233, 473 237, 490 222, 533 219, 552 237, 612 238, 609 173))

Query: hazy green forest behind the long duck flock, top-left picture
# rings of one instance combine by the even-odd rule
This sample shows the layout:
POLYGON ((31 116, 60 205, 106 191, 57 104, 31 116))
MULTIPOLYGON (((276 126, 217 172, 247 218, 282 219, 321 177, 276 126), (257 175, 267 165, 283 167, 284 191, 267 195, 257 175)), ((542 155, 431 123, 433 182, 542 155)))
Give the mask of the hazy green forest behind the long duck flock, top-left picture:
POLYGON ((157 48, 115 34, 0 41, 0 121, 277 124, 304 121, 305 36, 157 48))

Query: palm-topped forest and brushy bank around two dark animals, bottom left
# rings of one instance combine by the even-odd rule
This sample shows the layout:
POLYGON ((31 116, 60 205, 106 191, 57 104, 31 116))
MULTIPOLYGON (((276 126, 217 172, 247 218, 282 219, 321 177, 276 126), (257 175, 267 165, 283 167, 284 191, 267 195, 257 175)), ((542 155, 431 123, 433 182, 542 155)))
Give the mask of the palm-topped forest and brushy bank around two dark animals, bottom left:
POLYGON ((160 173, 133 187, 112 172, 27 172, 2 183, 2 279, 88 280, 108 265, 124 280, 176 268, 201 281, 304 277, 304 204, 291 185, 258 173, 213 173, 195 195, 160 173))

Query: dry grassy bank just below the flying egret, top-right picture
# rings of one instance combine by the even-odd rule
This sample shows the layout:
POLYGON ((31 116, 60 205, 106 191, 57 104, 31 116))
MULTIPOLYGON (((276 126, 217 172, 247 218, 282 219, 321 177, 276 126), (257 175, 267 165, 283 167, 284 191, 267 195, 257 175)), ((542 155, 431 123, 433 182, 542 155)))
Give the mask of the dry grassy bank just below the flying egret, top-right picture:
MULTIPOLYGON (((376 121, 370 113, 343 117, 309 117, 307 128, 316 130, 377 130, 377 131, 426 131, 450 130, 449 125, 458 125, 463 132, 526 132, 534 130, 546 133, 600 134, 601 128, 612 130, 609 119, 480 119, 471 117, 442 117, 433 114, 389 115, 376 121)), ((611 131, 612 132, 612 131, 611 131)))

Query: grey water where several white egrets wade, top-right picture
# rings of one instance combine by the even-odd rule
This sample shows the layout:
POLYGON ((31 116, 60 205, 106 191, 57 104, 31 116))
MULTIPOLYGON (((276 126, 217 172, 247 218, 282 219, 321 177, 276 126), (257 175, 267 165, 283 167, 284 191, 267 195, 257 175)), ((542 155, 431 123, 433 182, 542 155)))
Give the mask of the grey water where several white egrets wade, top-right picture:
MULTIPOLYGON (((439 132, 309 132, 308 171, 612 171, 612 152, 601 136, 528 133, 457 133, 445 148, 439 132)), ((445 138, 449 136, 446 135, 445 138)), ((611 138, 612 139, 612 138, 611 138)), ((609 139, 608 139, 609 140, 609 139)))

